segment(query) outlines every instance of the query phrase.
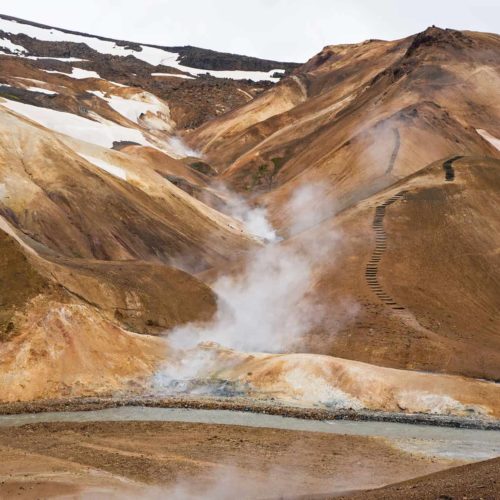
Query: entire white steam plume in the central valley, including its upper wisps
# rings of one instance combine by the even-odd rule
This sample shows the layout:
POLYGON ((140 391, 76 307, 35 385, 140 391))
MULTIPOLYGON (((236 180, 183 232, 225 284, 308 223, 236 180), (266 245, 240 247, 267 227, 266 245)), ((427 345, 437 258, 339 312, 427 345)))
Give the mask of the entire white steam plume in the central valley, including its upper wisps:
POLYGON ((293 234, 301 234, 287 242, 277 241, 264 211, 245 212, 244 205, 235 203, 241 220, 258 221, 260 235, 266 234, 270 243, 247 256, 243 272, 215 282, 218 309, 211 323, 166 332, 177 352, 170 356, 175 361, 169 360, 157 374, 158 388, 174 379, 208 377, 217 368, 217 359, 210 350, 200 349, 201 343, 215 342, 244 352, 286 352, 323 323, 327 311, 311 293, 314 268, 324 259, 333 261, 338 234, 315 231, 309 235, 306 230, 333 211, 328 203, 322 206, 321 200, 327 199, 321 185, 299 189, 292 196, 287 207, 295 215, 291 227, 293 234))

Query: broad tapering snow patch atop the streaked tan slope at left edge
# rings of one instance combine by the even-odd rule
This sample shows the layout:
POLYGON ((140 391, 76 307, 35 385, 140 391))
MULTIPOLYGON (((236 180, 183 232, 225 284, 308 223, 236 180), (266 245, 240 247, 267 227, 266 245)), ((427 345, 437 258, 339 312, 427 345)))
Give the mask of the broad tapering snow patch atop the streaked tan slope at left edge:
POLYGON ((130 141, 151 146, 139 130, 122 127, 104 119, 93 121, 71 113, 40 108, 17 101, 6 100, 1 104, 46 128, 105 148, 111 148, 115 141, 130 141))

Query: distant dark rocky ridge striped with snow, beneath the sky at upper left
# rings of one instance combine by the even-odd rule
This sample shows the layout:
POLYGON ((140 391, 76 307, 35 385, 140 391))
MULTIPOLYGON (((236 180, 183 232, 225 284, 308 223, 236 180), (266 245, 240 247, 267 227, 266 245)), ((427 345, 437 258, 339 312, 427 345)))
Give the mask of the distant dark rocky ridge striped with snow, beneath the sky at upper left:
POLYGON ((197 47, 113 40, 0 14, 2 59, 75 79, 86 75, 139 87, 168 101, 179 128, 245 104, 297 66, 197 47))

